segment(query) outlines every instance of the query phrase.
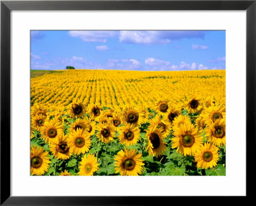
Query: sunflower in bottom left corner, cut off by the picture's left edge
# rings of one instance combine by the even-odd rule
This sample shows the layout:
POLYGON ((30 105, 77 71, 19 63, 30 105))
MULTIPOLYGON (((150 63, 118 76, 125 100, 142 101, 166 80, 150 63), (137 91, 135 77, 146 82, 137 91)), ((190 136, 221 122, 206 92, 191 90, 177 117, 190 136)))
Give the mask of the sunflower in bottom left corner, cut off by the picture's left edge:
POLYGON ((49 169, 51 161, 48 152, 42 147, 31 147, 30 150, 30 173, 31 175, 44 175, 49 169))

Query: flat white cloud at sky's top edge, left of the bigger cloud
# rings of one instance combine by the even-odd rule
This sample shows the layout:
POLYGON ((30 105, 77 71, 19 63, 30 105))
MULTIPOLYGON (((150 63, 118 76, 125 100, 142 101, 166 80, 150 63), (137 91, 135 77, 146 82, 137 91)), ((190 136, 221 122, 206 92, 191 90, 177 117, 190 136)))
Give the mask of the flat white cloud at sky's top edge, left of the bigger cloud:
POLYGON ((118 34, 116 31, 68 31, 68 35, 81 38, 85 42, 107 42, 118 34))

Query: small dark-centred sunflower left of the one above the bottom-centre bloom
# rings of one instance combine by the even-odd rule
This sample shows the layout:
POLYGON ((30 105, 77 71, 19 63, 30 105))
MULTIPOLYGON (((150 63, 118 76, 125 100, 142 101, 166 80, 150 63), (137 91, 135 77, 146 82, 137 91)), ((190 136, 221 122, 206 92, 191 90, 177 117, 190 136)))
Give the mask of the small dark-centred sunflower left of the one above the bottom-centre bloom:
POLYGON ((109 143, 115 136, 115 128, 111 124, 98 124, 98 138, 101 142, 109 143))

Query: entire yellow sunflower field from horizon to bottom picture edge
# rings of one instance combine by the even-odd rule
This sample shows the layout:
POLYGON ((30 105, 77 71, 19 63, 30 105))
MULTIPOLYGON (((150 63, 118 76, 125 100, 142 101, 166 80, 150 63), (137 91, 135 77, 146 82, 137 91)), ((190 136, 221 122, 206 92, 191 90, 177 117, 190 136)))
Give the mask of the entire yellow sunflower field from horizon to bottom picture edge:
POLYGON ((31 175, 225 175, 225 70, 31 71, 31 175))

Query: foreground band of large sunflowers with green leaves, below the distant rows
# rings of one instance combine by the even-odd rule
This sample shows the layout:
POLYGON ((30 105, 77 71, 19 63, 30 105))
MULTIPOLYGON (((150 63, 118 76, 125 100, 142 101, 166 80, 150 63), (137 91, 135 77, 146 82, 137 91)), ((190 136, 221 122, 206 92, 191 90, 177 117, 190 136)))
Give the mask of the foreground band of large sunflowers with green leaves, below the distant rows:
POLYGON ((223 175, 225 104, 198 97, 181 102, 35 104, 31 175, 223 175))

